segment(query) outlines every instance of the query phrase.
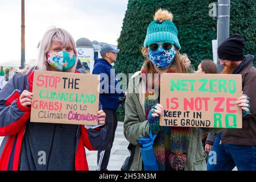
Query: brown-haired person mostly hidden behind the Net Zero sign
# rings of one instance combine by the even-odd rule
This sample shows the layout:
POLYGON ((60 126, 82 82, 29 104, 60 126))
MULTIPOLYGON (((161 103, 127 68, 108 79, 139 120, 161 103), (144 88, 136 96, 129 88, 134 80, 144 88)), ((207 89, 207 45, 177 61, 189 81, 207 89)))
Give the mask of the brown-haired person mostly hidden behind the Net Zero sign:
MULTIPOLYGON (((212 60, 203 60, 198 65, 196 73, 218 74, 218 68, 212 60)), ((206 133, 202 129, 200 129, 200 133, 204 150, 205 152, 209 153, 212 150, 212 146, 217 134, 206 133)))

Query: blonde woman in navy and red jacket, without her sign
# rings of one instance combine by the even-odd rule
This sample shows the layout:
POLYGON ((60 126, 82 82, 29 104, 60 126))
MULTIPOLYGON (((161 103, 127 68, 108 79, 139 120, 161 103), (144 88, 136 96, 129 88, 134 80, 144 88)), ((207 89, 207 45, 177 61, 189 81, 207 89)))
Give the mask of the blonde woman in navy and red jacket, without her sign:
MULTIPOLYGON (((99 150, 105 129, 84 125, 30 122, 34 69, 75 72, 77 52, 72 36, 51 28, 40 42, 36 67, 18 73, 0 91, 1 170, 88 170, 84 147, 99 150), (56 61, 56 55, 61 61, 56 61)), ((98 111, 105 125, 105 113, 98 111)))

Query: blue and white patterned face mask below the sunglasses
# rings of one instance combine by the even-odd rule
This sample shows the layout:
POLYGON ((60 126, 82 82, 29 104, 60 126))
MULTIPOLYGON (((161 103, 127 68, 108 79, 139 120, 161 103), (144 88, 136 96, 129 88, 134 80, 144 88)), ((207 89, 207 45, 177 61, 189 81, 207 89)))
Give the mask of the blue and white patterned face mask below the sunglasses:
POLYGON ((174 47, 168 51, 161 47, 156 51, 151 51, 151 49, 148 49, 147 57, 155 67, 166 68, 172 64, 172 61, 174 61, 175 54, 176 51, 174 47))

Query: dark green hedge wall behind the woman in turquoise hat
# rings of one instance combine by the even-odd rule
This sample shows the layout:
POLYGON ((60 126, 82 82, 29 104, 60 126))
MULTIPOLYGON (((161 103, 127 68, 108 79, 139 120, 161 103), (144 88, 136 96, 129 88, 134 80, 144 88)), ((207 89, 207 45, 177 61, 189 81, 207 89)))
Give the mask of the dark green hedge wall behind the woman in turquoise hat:
MULTIPOLYGON (((141 55, 147 26, 160 7, 174 14, 178 30, 180 53, 187 53, 192 64, 203 59, 212 59, 212 40, 217 38, 217 21, 208 15, 212 0, 129 0, 121 35, 118 39, 118 53, 115 71, 134 73, 141 69, 144 57, 141 55)), ((231 0, 230 35, 241 34, 245 38, 245 53, 256 56, 256 1, 231 0)), ((254 63, 254 65, 256 65, 254 63)), ((118 119, 123 113, 118 109, 118 119)))

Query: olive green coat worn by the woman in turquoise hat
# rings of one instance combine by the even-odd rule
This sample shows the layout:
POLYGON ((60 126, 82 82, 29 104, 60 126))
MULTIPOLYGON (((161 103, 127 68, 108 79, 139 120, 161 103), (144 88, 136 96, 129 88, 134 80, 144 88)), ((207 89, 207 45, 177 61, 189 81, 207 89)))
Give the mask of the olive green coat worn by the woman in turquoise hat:
MULTIPOLYGON (((136 146, 131 170, 142 170, 142 156, 139 151, 138 140, 140 137, 148 137, 149 125, 144 111, 144 100, 146 84, 141 79, 141 72, 136 72, 129 80, 128 94, 125 102, 125 122, 123 123, 123 133, 125 138, 136 146), (134 83, 134 84, 133 84, 134 83), (133 86, 134 85, 134 86, 133 86)), ((206 170, 206 153, 202 147, 200 131, 198 127, 191 128, 191 137, 188 144, 186 171, 206 170)), ((220 130, 204 128, 211 133, 218 133, 220 130)))

